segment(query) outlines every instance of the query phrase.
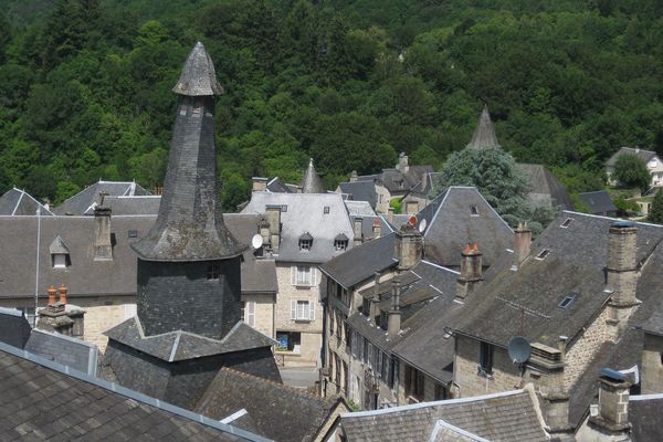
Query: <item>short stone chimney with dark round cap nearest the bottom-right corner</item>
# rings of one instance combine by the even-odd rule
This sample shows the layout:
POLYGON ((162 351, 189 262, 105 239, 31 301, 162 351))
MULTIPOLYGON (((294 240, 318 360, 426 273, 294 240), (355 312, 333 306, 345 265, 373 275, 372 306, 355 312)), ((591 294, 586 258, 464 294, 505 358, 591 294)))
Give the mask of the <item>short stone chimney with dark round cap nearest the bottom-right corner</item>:
POLYGON ((631 430, 629 389, 633 382, 625 375, 609 368, 601 369, 599 382, 599 412, 590 415, 590 427, 603 436, 628 435, 631 430))

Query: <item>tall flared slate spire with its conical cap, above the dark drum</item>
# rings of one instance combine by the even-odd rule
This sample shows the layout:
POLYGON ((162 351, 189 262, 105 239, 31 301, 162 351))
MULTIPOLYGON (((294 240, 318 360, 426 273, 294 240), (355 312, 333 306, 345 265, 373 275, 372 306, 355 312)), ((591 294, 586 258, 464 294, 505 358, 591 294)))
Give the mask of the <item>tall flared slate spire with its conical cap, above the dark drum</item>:
POLYGON ((242 246, 223 224, 217 180, 214 95, 223 93, 223 88, 202 43, 189 54, 173 92, 182 97, 159 215, 134 250, 146 261, 238 256, 242 246))

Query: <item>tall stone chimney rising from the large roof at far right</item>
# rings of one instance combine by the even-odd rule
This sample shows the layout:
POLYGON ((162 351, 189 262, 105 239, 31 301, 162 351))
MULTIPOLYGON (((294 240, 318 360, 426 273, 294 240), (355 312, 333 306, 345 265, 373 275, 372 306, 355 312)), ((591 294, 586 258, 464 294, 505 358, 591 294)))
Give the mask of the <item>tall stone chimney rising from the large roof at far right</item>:
POLYGON ((606 290, 612 291, 609 324, 615 326, 613 336, 625 326, 638 299, 638 228, 632 221, 617 221, 608 231, 608 265, 606 290))

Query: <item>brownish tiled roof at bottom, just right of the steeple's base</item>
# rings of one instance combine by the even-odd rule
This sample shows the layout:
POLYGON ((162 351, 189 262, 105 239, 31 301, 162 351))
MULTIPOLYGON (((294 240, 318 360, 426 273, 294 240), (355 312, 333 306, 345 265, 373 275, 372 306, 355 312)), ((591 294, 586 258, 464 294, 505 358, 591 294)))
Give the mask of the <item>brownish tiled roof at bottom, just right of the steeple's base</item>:
POLYGON ((249 419, 233 421, 234 425, 280 442, 307 442, 337 404, 304 390, 222 368, 194 411, 223 419, 244 409, 249 419))

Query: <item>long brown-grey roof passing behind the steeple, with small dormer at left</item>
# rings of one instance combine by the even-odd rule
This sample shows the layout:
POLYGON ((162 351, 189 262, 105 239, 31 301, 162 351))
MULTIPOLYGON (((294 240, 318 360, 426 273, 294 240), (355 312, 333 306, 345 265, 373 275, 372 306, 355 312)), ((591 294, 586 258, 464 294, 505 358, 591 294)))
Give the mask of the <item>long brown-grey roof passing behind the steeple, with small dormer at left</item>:
MULTIPOLYGON (((345 210, 345 208, 344 208, 345 210)), ((238 241, 250 244, 257 233, 260 215, 224 214, 228 229, 238 241)), ((64 284, 71 297, 84 295, 128 295, 136 293, 136 253, 130 245, 145 235, 156 215, 112 215, 113 261, 94 261, 94 217, 54 215, 0 217, 0 298, 33 297, 36 236, 40 231, 40 287, 64 284), (59 239, 59 240, 57 240, 59 239), (57 241, 56 241, 57 240, 57 241), (69 253, 66 269, 53 266, 51 245, 69 253)), ((242 286, 249 292, 275 293, 273 260, 262 260, 252 249, 244 251, 242 286)), ((40 296, 45 296, 45 288, 40 296)))

